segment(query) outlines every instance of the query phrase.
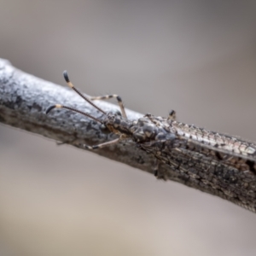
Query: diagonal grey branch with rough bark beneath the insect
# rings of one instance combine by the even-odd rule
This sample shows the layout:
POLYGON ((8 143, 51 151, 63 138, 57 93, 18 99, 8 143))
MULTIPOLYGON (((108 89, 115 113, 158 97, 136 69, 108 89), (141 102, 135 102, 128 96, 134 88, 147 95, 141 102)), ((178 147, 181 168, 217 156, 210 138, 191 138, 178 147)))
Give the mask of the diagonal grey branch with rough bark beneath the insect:
MULTIPOLYGON (((9 61, 0 59, 0 122, 77 148, 83 148, 83 143, 93 145, 114 138, 112 134, 102 130, 101 125, 96 121, 81 116, 79 113, 55 109, 46 115, 45 110, 55 103, 73 106, 73 108, 78 108, 95 117, 100 117, 102 114, 84 102, 73 90, 38 79, 16 69, 9 61)), ((96 104, 106 111, 117 108, 108 102, 96 102, 96 104)), ((141 113, 131 110, 126 110, 126 112, 129 119, 137 119, 142 116, 141 113)), ((154 173, 152 169, 154 156, 137 148, 131 140, 121 141, 93 152, 137 169, 154 173)), ((160 177, 164 179, 183 183, 213 195, 211 190, 204 189, 189 179, 184 180, 170 166, 160 164, 159 173, 160 177)), ((218 196, 223 197, 222 195, 218 196)))

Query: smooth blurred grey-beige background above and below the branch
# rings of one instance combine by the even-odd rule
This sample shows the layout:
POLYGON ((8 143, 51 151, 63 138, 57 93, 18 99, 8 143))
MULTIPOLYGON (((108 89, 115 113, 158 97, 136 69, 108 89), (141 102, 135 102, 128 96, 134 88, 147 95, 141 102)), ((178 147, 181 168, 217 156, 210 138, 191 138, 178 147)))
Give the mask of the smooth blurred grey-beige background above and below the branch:
MULTIPOLYGON (((1 0, 0 57, 256 141, 255 1, 1 0)), ((255 255, 256 215, 0 125, 0 255, 255 255)))

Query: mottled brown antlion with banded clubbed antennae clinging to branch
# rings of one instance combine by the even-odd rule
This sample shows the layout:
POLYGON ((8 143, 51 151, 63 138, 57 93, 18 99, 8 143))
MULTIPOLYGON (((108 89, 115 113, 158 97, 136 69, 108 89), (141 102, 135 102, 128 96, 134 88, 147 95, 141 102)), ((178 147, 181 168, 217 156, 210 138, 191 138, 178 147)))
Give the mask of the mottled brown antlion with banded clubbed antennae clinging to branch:
POLYGON ((214 131, 207 131, 195 125, 177 122, 174 111, 171 111, 167 118, 147 113, 137 120, 127 119, 119 96, 88 98, 73 86, 67 76, 67 71, 63 75, 69 87, 103 113, 103 116, 98 119, 89 113, 61 104, 50 106, 46 113, 53 108, 66 108, 96 120, 105 125, 109 131, 119 135, 119 138, 113 141, 94 146, 84 145, 84 148, 102 148, 131 138, 137 143, 137 147, 154 154, 155 176, 158 176, 158 163, 161 161, 169 165, 172 171, 177 172, 185 182, 194 183, 194 187, 256 212, 255 144, 214 131), (106 113, 92 102, 113 97, 119 103, 121 114, 106 113))

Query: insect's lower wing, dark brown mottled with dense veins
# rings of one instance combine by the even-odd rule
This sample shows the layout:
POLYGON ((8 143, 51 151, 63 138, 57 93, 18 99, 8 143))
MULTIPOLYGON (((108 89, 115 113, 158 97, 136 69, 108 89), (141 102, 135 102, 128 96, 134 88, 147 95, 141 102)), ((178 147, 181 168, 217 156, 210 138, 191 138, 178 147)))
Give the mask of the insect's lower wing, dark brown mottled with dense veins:
POLYGON ((233 201, 241 207, 256 211, 256 175, 247 168, 251 156, 199 143, 190 138, 177 136, 174 140, 151 141, 140 147, 171 166, 180 177, 195 184, 201 190, 233 201), (218 154, 223 154, 220 160, 218 154), (241 162, 238 162, 241 160, 241 162), (244 169, 244 170, 242 170, 244 169))

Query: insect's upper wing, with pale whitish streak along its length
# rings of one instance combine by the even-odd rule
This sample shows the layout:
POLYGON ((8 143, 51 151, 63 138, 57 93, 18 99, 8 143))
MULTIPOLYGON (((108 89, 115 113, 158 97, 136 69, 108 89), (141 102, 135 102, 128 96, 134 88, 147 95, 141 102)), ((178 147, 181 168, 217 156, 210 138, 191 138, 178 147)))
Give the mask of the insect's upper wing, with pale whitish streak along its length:
POLYGON ((255 144, 177 121, 172 122, 170 129, 180 137, 180 145, 176 147, 199 152, 240 171, 256 174, 255 144))

